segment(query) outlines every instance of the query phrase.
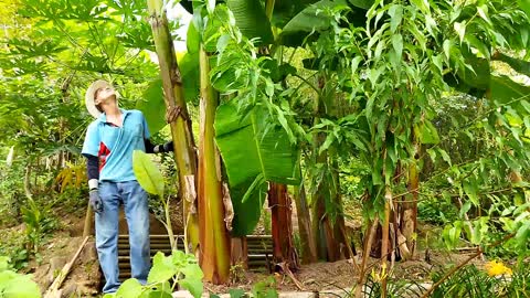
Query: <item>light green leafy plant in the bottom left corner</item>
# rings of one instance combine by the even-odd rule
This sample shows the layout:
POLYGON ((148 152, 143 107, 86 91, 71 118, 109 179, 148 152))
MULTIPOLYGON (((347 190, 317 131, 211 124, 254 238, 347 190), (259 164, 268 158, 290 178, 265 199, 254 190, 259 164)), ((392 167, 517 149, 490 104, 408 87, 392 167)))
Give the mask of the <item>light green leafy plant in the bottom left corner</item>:
POLYGON ((39 286, 31 275, 13 272, 10 258, 0 256, 0 297, 6 298, 40 298, 39 286))

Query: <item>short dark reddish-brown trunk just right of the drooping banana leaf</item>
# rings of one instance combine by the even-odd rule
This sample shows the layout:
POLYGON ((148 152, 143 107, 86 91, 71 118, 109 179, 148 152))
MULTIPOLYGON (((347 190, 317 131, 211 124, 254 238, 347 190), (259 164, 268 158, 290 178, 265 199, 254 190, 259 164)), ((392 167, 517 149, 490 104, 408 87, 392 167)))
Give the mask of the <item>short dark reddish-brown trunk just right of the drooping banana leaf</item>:
POLYGON ((287 187, 271 182, 267 198, 273 223, 273 262, 285 263, 290 270, 297 270, 299 264, 293 245, 292 206, 287 187))

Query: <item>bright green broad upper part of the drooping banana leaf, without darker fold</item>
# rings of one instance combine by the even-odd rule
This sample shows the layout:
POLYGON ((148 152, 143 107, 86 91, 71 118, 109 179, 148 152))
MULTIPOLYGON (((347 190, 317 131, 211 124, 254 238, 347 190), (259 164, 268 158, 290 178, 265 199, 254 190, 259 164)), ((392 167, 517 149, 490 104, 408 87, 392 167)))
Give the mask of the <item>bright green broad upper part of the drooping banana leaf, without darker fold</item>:
POLYGON ((266 115, 257 108, 241 119, 234 104, 224 104, 215 115, 215 140, 231 185, 262 175, 266 181, 297 183, 296 148, 282 128, 265 131, 266 115))

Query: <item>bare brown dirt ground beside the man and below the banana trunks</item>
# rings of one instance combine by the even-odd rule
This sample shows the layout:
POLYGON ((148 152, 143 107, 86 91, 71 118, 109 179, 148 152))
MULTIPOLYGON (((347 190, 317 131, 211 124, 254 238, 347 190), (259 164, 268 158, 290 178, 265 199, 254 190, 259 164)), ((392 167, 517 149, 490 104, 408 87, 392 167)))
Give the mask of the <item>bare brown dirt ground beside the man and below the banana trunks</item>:
MULTIPOLYGON (((84 219, 75 216, 66 216, 63 219, 64 227, 53 235, 53 238, 41 249, 42 262, 31 262, 28 273, 32 273, 35 281, 41 289, 47 288, 53 277, 62 266, 68 262, 75 254, 82 243, 82 226, 84 219)), ((395 278, 413 279, 423 281, 430 279, 430 273, 448 266, 451 264, 459 264, 466 259, 473 252, 462 252, 448 254, 444 252, 430 252, 428 259, 425 262, 425 251, 416 253, 413 260, 396 262, 392 270, 395 278)), ((95 295, 100 287, 100 273, 97 267, 97 256, 94 243, 83 249, 83 253, 76 264, 74 270, 64 284, 66 292, 82 292, 81 297, 95 295), (91 248, 92 247, 92 248, 91 248)), ((356 258, 356 263, 360 265, 360 256, 356 258)), ((481 266, 484 260, 479 258, 471 263, 481 266)), ((378 273, 379 259, 370 258, 369 264, 373 265, 374 272, 378 273)), ((390 262, 389 262, 390 264, 390 262)), ((371 273, 372 269, 369 270, 371 273)), ((287 275, 271 275, 263 268, 263 272, 240 272, 234 275, 239 280, 226 286, 216 286, 205 283, 204 290, 206 292, 223 294, 231 288, 241 288, 251 290, 252 286, 258 281, 267 280, 273 277, 276 287, 280 291, 296 291, 299 288, 294 280, 287 275)), ((306 291, 316 291, 324 289, 344 289, 351 288, 358 277, 358 270, 352 259, 339 260, 336 263, 316 263, 310 265, 301 265, 300 269, 294 273, 295 278, 301 284, 306 291)))

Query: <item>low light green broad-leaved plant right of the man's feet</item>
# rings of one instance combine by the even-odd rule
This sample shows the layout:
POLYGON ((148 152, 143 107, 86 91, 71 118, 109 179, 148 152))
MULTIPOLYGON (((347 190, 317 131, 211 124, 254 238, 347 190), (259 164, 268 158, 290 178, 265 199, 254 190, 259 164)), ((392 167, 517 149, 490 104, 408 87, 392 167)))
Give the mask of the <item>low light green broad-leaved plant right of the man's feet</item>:
POLYGON ((158 252, 152 259, 152 268, 147 277, 147 285, 141 285, 136 278, 125 280, 115 294, 107 294, 104 298, 110 297, 171 297, 177 285, 189 290, 193 297, 202 296, 202 270, 197 264, 195 256, 184 254, 180 251, 172 252, 165 256, 158 252))

